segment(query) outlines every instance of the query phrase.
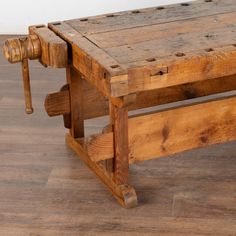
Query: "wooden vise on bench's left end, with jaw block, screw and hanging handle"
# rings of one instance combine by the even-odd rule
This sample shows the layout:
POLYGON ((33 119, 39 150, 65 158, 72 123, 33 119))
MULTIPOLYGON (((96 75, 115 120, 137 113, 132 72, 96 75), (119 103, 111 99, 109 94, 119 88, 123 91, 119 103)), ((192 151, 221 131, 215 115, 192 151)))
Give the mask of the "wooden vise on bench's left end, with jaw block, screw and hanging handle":
POLYGON ((6 40, 3 54, 10 63, 21 62, 26 113, 33 113, 28 59, 40 59, 44 66, 66 68, 67 43, 44 25, 31 26, 29 35, 6 40))

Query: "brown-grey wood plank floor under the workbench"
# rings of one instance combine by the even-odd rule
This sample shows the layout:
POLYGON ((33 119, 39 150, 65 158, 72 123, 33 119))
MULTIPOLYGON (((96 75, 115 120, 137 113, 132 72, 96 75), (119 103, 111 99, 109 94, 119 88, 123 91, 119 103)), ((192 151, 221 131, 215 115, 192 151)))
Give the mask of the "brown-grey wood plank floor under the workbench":
MULTIPOLYGON (((0 46, 7 37, 0 37, 0 46)), ((236 235, 236 142, 131 166, 139 206, 121 208, 44 112, 64 70, 31 63, 35 113, 24 114, 19 64, 0 55, 0 235, 236 235)), ((105 126, 86 122, 87 133, 105 126)))

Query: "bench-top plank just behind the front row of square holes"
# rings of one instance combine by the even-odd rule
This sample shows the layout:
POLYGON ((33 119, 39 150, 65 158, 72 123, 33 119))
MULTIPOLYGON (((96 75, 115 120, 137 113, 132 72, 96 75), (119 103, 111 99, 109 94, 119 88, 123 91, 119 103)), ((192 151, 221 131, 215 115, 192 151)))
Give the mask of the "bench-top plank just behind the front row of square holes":
MULTIPOLYGON (((236 13, 231 17, 236 19, 236 13)), ((214 20, 212 19, 212 21, 214 20)), ((195 22, 191 23, 194 25, 195 22)), ((208 25, 208 22, 205 23, 208 25)), ((148 65, 150 62, 154 64, 155 60, 156 64, 158 63, 161 65, 162 62, 165 61, 166 57, 170 57, 177 53, 184 53, 185 55, 195 53, 196 56, 199 54, 199 56, 201 56, 201 51, 212 49, 210 52, 213 52, 213 50, 219 50, 222 46, 233 45, 235 43, 236 20, 235 23, 232 22, 232 24, 225 24, 221 28, 207 27, 204 29, 203 27, 202 29, 199 29, 199 32, 191 32, 190 30, 189 33, 181 33, 182 28, 177 28, 176 26, 177 29, 174 31, 171 28, 169 29, 168 25, 166 27, 167 29, 164 29, 163 31, 166 32, 167 35, 170 34, 170 36, 163 38, 157 37, 117 47, 109 47, 106 48, 105 51, 111 57, 116 58, 119 64, 123 64, 127 68, 130 68, 136 64, 142 66, 148 65)), ((181 27, 181 24, 179 27, 181 27)), ((186 30, 188 30, 188 28, 186 30)), ((145 34, 145 32, 143 32, 143 34, 145 34)), ((133 35, 135 38, 135 34, 133 35)), ((150 35, 150 37, 152 37, 153 34, 150 33, 150 35)), ((129 37, 127 36, 124 38, 127 39, 129 37)), ((106 41, 106 39, 104 39, 104 41, 106 41)), ((176 60, 178 58, 179 57, 176 57, 176 60)))

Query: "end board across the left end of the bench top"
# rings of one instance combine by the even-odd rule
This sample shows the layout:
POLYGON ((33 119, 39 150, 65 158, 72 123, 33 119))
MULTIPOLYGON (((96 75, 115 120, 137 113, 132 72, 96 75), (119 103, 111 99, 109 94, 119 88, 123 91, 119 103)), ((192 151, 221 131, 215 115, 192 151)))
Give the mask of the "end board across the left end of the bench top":
POLYGON ((71 45, 73 67, 106 97, 111 97, 110 78, 126 75, 127 70, 67 23, 52 22, 48 27, 71 45), (104 64, 99 63, 96 57, 101 58, 104 64))

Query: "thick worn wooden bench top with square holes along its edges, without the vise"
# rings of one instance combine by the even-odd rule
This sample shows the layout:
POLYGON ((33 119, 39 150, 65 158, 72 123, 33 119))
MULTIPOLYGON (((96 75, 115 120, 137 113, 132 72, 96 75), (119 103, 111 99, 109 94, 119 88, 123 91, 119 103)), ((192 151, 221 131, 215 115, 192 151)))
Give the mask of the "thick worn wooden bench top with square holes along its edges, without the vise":
POLYGON ((236 74, 236 1, 199 0, 49 24, 73 65, 118 97, 236 74))

